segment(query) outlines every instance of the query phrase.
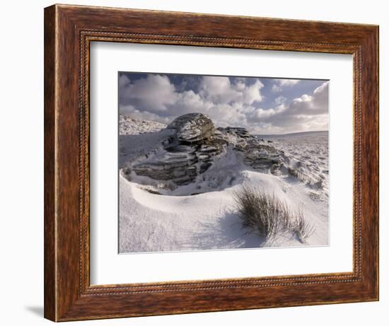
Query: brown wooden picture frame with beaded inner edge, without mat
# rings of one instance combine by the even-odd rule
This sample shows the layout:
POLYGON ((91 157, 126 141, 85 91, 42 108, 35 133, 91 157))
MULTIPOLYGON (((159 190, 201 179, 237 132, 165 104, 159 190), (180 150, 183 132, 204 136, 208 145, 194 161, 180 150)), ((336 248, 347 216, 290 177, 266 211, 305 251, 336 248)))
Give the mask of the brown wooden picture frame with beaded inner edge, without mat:
POLYGON ((45 8, 45 318, 86 320, 377 300, 378 26, 88 6, 45 8), (91 286, 92 41, 353 54, 353 272, 91 286))

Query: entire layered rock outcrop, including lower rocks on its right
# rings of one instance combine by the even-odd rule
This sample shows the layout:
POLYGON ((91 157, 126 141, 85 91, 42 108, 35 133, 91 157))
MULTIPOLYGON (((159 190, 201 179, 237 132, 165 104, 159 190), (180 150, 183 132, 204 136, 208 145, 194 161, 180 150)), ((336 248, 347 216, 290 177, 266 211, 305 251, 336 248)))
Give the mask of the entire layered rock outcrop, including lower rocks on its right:
POLYGON ((232 150, 255 170, 281 173, 283 152, 238 127, 215 128, 202 113, 177 117, 166 127, 161 146, 132 163, 137 175, 188 185, 207 171, 215 160, 232 150))

